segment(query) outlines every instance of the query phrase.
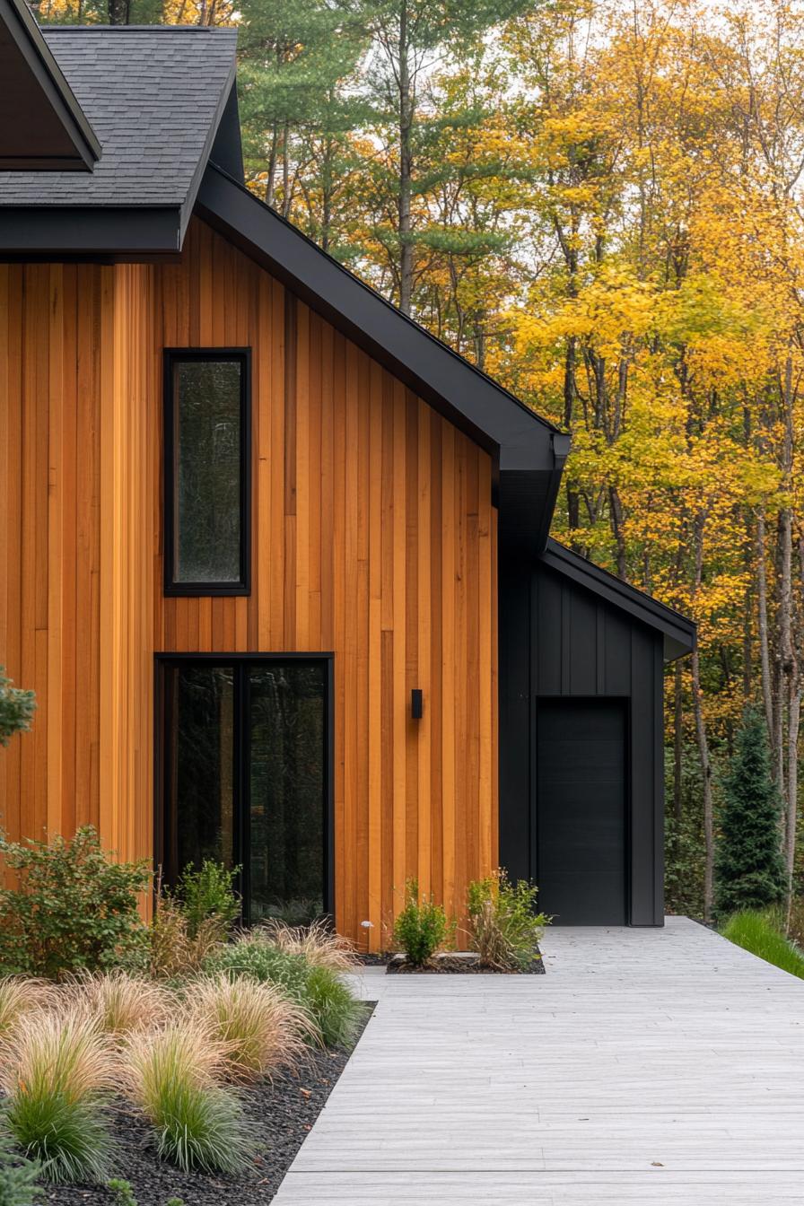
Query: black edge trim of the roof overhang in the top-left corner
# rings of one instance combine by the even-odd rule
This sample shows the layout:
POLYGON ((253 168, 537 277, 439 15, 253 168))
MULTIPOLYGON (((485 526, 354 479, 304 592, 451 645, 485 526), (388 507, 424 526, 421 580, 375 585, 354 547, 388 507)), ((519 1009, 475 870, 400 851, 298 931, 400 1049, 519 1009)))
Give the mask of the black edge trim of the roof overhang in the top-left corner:
MULTIPOLYGON (((92 171, 101 156, 100 142, 24 0, 0 0, 0 25, 5 27, 16 48, 22 70, 29 74, 37 89, 43 111, 57 119, 75 148, 74 156, 45 154, 18 160, 4 159, 0 153, 0 168, 10 171, 92 171)), ((8 116, 6 113, 6 118, 8 116)))

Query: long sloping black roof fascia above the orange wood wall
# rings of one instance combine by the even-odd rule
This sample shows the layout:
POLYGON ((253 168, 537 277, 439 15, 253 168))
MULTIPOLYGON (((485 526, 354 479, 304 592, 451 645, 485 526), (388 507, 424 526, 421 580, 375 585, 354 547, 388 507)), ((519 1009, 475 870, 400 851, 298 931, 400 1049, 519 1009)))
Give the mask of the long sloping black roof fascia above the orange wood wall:
POLYGON ((556 468, 558 428, 401 314, 275 210, 210 164, 196 211, 395 376, 499 453, 500 470, 556 468))

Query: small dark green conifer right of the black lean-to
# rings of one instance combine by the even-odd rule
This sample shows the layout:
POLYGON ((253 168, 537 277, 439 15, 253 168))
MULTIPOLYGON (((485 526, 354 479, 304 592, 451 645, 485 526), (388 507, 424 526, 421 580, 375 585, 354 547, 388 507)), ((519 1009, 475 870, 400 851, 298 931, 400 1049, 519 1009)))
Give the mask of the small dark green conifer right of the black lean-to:
POLYGON ((745 709, 734 756, 723 777, 715 906, 724 917, 763 909, 785 897, 779 822, 781 800, 770 774, 770 750, 759 712, 745 709))

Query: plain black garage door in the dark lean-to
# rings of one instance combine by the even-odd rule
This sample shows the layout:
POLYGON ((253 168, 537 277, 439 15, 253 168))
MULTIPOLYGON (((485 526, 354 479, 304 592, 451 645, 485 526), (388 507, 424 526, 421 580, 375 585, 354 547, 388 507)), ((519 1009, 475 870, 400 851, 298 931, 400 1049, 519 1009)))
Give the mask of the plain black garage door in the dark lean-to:
POLYGON ((626 925, 626 707, 541 699, 536 709, 539 906, 558 925, 626 925))

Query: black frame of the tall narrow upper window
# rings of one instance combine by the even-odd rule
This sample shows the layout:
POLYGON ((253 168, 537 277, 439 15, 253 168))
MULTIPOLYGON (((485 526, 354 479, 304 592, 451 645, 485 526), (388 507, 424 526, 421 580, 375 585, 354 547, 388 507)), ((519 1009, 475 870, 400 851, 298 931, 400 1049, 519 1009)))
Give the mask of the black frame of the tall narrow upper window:
POLYGON ((168 597, 198 598, 251 595, 251 456, 252 456, 251 347, 165 347, 163 358, 163 592, 168 597), (240 578, 236 582, 177 582, 175 541, 176 447, 174 418, 175 367, 193 361, 231 361, 240 371, 240 578))

